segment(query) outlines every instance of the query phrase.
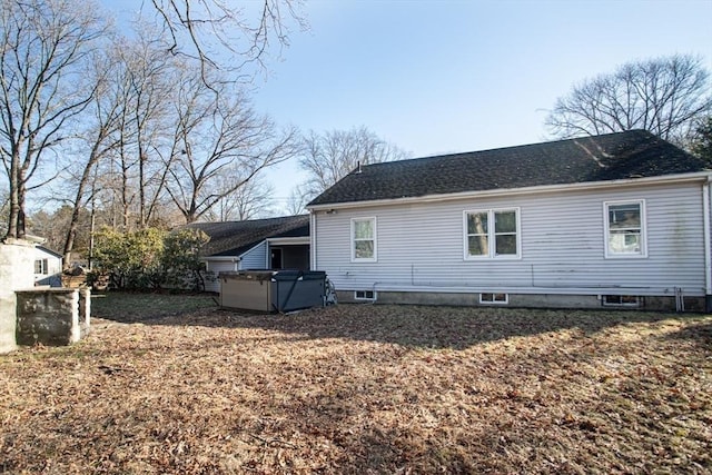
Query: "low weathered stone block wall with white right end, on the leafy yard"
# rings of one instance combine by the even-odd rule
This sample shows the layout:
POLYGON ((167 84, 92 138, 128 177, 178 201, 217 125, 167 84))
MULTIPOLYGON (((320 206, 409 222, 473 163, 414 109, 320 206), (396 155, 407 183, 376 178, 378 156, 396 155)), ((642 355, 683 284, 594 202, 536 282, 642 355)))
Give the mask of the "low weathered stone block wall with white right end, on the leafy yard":
POLYGON ((88 289, 17 291, 17 343, 71 345, 89 333, 88 289))

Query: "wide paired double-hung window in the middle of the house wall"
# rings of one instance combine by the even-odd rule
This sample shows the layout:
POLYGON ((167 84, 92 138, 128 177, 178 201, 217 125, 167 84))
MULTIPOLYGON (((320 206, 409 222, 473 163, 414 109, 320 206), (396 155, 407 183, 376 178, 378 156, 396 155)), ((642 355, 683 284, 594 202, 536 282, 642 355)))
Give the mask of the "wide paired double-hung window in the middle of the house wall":
POLYGON ((465 211, 465 259, 518 258, 520 209, 465 211))

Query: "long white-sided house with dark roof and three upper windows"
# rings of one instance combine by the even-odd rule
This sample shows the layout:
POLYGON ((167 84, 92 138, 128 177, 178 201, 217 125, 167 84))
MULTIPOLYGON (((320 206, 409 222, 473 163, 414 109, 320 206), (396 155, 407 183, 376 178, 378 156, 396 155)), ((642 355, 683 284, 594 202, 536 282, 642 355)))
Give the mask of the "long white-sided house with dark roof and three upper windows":
POLYGON ((634 130, 364 166, 307 208, 339 301, 712 310, 710 171, 634 130))

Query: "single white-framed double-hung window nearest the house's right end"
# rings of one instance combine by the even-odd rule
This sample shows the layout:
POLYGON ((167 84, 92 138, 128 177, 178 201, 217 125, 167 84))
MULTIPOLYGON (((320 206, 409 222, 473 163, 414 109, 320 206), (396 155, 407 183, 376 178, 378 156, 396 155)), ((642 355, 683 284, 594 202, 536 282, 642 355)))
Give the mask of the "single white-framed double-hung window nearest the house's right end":
POLYGON ((605 257, 645 257, 645 201, 607 201, 605 257))

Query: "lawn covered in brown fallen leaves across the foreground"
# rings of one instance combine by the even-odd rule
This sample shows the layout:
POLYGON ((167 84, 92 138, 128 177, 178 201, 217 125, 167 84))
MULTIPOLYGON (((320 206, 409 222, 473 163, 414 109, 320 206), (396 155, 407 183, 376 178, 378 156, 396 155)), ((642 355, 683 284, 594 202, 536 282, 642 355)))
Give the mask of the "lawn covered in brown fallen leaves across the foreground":
POLYGON ((0 472, 712 473, 712 316, 92 304, 0 356, 0 472))

